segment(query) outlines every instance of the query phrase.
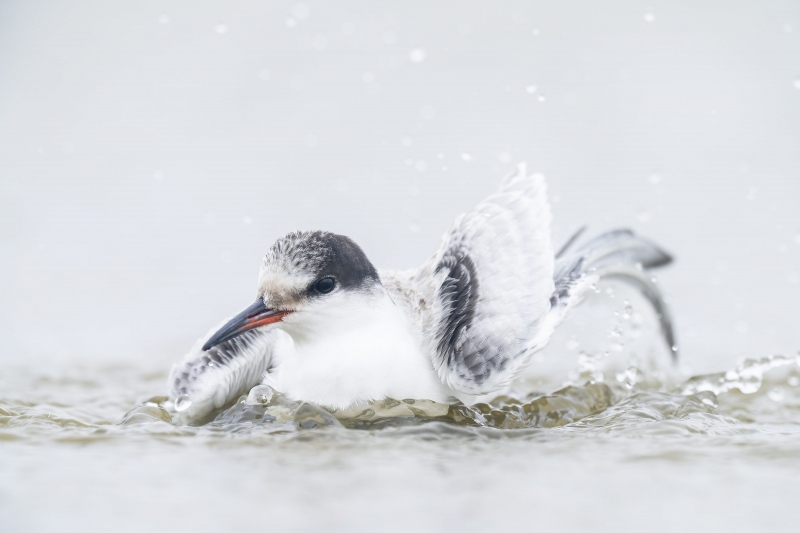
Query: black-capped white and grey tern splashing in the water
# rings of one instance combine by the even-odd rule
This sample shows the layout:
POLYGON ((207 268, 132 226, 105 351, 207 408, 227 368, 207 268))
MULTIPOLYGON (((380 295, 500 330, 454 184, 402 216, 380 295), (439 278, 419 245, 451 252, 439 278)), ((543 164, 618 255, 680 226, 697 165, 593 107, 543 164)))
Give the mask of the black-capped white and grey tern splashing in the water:
POLYGON ((261 261, 256 299, 172 367, 187 422, 256 385, 333 411, 387 398, 485 401, 506 390, 601 279, 632 284, 677 354, 650 269, 672 257, 628 229, 555 251, 547 184, 520 164, 456 218, 417 269, 378 270, 349 237, 296 231, 261 261))

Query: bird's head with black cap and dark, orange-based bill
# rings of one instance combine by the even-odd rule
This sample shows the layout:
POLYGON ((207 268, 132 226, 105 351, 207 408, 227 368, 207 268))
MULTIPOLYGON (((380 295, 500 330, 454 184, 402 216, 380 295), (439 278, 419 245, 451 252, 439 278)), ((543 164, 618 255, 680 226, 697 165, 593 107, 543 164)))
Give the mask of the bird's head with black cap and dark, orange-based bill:
POLYGON ((255 328, 280 326, 295 340, 346 324, 353 306, 383 293, 377 270, 350 238, 322 231, 278 239, 261 263, 256 301, 203 345, 208 350, 255 328))

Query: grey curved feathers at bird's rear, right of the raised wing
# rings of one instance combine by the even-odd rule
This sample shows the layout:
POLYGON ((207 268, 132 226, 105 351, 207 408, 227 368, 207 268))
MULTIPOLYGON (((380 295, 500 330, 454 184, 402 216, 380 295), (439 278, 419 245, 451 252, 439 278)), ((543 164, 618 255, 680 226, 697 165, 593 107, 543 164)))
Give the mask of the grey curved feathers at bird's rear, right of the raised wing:
MULTIPOLYGON (((583 229, 580 230, 582 232, 583 229)), ((579 234, 580 234, 579 232, 579 234)), ((578 235, 579 235, 578 234, 578 235)), ((566 312, 580 300, 584 290, 601 279, 619 279, 639 289, 658 315, 661 333, 673 357, 677 357, 672 318, 664 297, 648 269, 672 262, 672 257, 650 241, 627 229, 599 235, 574 251, 576 238, 569 239, 556 258, 556 290, 551 304, 566 312)))

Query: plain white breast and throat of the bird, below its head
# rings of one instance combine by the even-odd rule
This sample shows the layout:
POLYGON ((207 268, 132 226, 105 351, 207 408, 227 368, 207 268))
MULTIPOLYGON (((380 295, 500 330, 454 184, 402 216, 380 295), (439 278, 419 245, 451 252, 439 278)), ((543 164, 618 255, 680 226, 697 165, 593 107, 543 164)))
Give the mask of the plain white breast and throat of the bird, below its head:
MULTIPOLYGON (((293 349, 275 354, 264 382, 298 401, 335 409, 383 398, 445 401, 421 332, 391 298, 341 292, 287 316, 293 349)), ((288 344, 288 343, 287 343, 288 344)))

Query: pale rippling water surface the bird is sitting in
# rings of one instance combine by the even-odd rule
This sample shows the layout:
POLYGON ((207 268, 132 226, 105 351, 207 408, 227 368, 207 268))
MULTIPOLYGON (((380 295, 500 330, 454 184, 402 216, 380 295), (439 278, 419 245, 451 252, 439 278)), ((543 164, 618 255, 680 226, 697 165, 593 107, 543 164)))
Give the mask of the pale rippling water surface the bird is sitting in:
POLYGON ((472 407, 329 413, 260 386, 189 427, 148 398, 161 372, 19 369, 2 382, 0 530, 795 530, 800 357, 689 379, 582 370, 472 407))

